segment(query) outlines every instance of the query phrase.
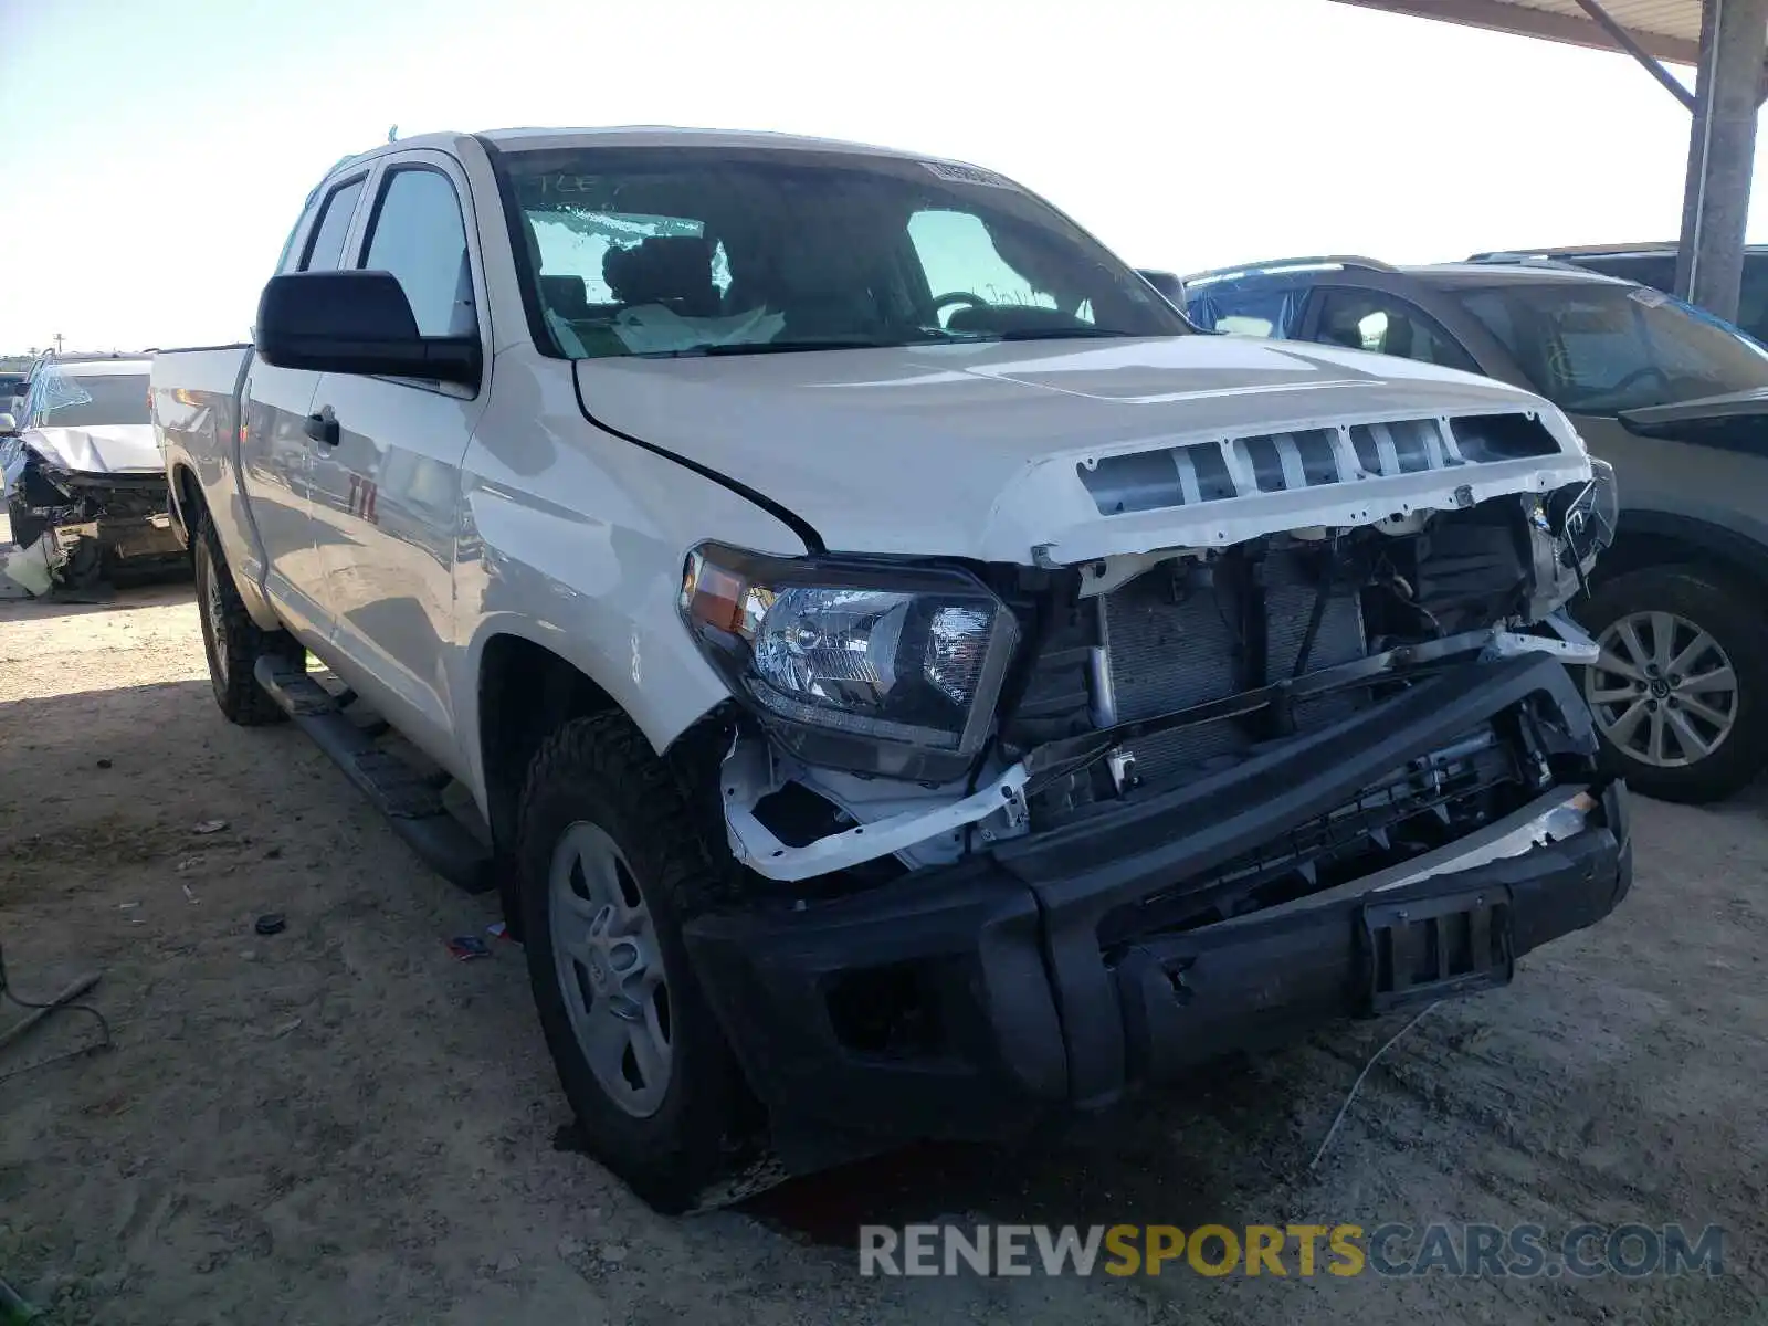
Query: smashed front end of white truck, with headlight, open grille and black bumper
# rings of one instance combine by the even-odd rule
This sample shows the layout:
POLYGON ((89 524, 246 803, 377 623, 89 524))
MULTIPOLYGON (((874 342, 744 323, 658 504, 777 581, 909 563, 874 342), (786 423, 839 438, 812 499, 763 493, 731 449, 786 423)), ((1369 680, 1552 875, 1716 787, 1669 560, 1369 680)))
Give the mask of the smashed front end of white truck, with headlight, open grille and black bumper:
POLYGON ((1179 537, 690 559, 684 621, 746 711, 720 790, 755 905, 688 939, 776 1112, 990 1135, 1501 983, 1627 888, 1563 667, 1595 658, 1563 606, 1612 472, 1568 430, 1351 423, 1071 474, 1179 537))

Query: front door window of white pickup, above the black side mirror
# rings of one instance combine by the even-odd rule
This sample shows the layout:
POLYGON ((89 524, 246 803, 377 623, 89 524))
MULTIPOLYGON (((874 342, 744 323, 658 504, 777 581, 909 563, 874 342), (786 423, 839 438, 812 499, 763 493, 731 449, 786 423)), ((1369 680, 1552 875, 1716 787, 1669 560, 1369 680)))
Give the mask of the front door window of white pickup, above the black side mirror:
POLYGON ((460 198, 447 175, 405 168, 387 175, 361 267, 392 272, 423 336, 472 336, 472 265, 460 198))

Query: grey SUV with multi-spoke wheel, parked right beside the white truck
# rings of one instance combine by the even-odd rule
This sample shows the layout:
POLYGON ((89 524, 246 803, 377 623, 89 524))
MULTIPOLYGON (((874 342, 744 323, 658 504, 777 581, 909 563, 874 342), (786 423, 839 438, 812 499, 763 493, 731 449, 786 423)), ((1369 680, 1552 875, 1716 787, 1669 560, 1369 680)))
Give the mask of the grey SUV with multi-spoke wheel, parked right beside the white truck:
POLYGON ((1185 279, 1206 329, 1482 373, 1616 467, 1614 546, 1575 613, 1584 695, 1637 790, 1715 801, 1768 755, 1768 350, 1658 290, 1543 260, 1291 258, 1185 279))

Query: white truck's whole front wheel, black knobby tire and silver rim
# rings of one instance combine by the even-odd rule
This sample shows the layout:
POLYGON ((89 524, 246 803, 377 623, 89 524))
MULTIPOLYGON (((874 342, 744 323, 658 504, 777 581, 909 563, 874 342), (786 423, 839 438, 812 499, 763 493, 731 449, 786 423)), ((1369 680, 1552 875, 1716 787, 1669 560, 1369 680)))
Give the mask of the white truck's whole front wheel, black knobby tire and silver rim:
POLYGON ((603 714, 534 757, 516 856, 534 1002, 589 1151, 656 1209, 695 1206, 760 1133, 681 939, 718 891, 704 826, 644 734, 603 714))

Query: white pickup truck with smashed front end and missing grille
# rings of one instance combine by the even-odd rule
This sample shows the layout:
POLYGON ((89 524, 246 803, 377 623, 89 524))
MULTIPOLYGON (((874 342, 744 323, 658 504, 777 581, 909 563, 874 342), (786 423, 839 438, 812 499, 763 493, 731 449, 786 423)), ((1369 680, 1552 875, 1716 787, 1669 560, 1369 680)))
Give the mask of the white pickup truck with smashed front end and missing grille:
POLYGON ((500 889, 665 1209, 1503 983, 1630 882, 1565 415, 1202 334, 987 170, 392 143, 152 394, 223 713, 500 889))

